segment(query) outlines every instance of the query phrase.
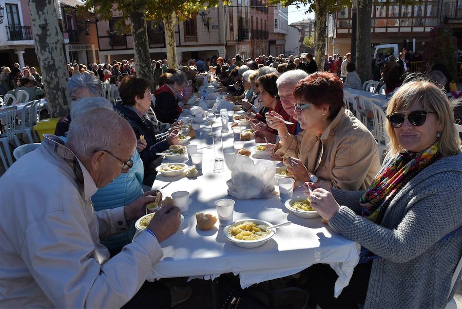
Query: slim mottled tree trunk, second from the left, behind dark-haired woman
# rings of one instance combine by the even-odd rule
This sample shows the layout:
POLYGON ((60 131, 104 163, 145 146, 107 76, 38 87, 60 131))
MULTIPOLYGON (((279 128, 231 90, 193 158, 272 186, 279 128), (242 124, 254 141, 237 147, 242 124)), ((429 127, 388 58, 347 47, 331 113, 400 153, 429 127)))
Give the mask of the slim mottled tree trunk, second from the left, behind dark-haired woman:
POLYGON ((148 80, 152 85, 151 57, 149 55, 149 41, 146 30, 146 8, 141 7, 131 11, 130 22, 137 77, 148 80))

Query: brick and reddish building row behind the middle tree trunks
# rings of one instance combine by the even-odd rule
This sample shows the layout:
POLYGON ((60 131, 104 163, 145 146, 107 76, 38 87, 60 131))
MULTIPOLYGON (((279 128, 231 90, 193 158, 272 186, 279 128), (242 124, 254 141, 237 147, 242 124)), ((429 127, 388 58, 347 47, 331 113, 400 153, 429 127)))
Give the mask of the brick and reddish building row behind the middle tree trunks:
MULTIPOLYGON (((252 27, 249 15, 252 15, 254 8, 248 4, 248 0, 232 0, 229 6, 220 2, 217 8, 201 11, 191 19, 179 22, 175 26, 178 61, 199 58, 205 60, 215 55, 233 58, 237 53, 243 58, 252 57, 253 48, 261 40, 255 39, 249 30, 252 27)), ((134 56, 131 34, 115 31, 114 26, 118 19, 120 17, 116 15, 110 21, 97 22, 101 62, 128 60, 134 56)), ((162 22, 149 21, 147 31, 151 59, 166 59, 162 22)))

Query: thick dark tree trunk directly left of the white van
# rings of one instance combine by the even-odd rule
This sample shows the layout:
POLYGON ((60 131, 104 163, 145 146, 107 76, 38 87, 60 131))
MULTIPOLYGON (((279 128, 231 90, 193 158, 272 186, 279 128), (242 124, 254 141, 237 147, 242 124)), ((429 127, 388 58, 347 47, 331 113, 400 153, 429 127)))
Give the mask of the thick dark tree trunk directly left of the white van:
POLYGON ((358 0, 356 72, 361 82, 372 79, 371 58, 372 0, 358 0))

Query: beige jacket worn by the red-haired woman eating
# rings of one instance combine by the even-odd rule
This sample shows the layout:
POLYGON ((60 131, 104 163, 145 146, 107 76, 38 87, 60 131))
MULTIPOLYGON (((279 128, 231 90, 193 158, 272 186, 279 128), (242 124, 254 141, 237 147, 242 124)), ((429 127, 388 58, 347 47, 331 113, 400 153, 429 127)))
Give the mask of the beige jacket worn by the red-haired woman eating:
POLYGON ((289 138, 276 153, 299 158, 310 173, 336 188, 367 189, 380 169, 377 142, 343 107, 321 136, 305 130, 289 138))

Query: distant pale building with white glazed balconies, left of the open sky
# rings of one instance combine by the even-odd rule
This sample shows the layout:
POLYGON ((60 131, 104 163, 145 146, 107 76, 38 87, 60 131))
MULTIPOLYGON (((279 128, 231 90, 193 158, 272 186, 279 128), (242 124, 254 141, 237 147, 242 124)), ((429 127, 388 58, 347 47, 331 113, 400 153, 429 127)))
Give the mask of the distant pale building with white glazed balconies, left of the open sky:
POLYGON ((288 9, 282 6, 272 6, 268 10, 269 20, 269 54, 278 56, 285 54, 285 44, 288 34, 288 9))

